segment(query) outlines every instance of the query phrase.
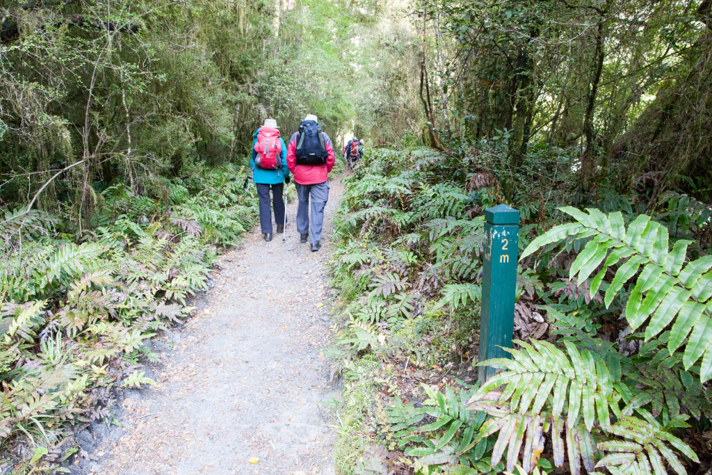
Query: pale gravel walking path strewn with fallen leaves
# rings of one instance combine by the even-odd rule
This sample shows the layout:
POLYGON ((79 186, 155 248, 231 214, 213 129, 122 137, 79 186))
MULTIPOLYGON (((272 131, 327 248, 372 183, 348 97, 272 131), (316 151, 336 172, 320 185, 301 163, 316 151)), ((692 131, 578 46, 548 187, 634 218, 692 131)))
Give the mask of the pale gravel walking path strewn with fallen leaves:
POLYGON ((167 335, 157 384, 122 402, 123 429, 94 451, 89 471, 333 474, 329 402, 339 391, 320 350, 331 337, 325 261, 340 177, 330 187, 321 251, 299 244, 293 199, 286 242, 255 229, 222 256, 204 305, 167 335))

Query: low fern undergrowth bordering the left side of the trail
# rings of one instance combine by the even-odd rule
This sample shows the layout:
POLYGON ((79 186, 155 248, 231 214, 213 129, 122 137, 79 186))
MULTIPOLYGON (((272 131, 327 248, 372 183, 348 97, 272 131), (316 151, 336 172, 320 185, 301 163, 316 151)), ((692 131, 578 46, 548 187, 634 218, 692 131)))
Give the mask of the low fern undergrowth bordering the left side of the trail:
MULTIPOLYGON (((179 322, 219 249, 251 226, 255 199, 231 166, 104 189, 91 229, 6 212, 0 223, 0 450, 14 473, 66 471, 68 429, 110 422, 112 390, 152 381, 146 341, 179 322), (247 199, 245 199, 247 198, 247 199)), ((66 221, 65 221, 66 222, 66 221)))

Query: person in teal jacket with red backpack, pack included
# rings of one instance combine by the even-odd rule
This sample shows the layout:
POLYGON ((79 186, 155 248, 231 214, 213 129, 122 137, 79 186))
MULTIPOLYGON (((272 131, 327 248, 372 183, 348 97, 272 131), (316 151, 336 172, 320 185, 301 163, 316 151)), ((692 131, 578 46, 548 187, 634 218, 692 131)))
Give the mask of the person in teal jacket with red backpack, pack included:
POLYGON ((260 199, 260 226, 265 241, 272 240, 272 213, 270 211, 269 190, 272 189, 272 203, 277 232, 284 232, 284 192, 285 182, 289 184, 289 167, 287 167, 287 146, 279 137, 279 127, 274 119, 267 119, 254 134, 252 142, 252 181, 257 187, 260 199))

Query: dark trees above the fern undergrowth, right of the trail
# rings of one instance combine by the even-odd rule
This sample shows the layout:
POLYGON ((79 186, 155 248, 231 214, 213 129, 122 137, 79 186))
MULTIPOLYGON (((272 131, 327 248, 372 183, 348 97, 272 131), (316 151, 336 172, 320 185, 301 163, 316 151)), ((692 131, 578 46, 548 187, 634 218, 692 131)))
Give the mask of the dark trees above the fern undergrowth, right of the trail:
POLYGON ((708 1, 414 1, 411 48, 421 61, 412 99, 422 102, 426 130, 438 132, 425 138, 452 149, 507 137, 496 172, 508 193, 513 177, 528 171, 527 157, 572 153, 580 157, 577 204, 603 183, 622 191, 645 173, 654 193, 679 187, 708 200, 710 8, 708 1))

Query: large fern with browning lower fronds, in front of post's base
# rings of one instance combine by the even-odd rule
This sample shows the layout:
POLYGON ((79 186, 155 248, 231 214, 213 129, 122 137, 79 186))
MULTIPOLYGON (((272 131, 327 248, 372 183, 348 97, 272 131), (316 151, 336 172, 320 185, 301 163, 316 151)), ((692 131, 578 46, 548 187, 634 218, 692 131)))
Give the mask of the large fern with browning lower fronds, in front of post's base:
MULTIPOLYGON (((582 463, 587 471, 593 471, 598 456, 595 434, 619 434, 622 429, 611 424, 613 416, 617 421, 624 418, 630 423, 639 421, 632 417, 631 409, 625 414, 620 408, 619 403, 629 400, 630 395, 621 381, 620 366, 589 350, 579 351, 569 341, 564 342, 565 352, 544 341, 534 340, 531 345, 516 343, 522 349, 508 350, 511 360, 480 363, 503 372, 488 380, 468 401, 470 409, 485 411, 493 417, 483 424, 481 437, 499 432, 492 466, 506 453, 507 470, 512 471, 524 446, 521 466, 530 471, 543 451, 543 434, 550 432, 556 466, 562 466, 566 456, 572 474, 580 473, 582 463), (503 389, 496 390, 498 387, 503 389)), ((662 432, 656 432, 656 444, 670 451, 666 446, 669 442, 696 460, 686 444, 678 443, 679 439, 667 432, 674 427, 679 426, 671 423, 662 432)), ((608 447, 624 445, 599 446, 608 447)))

